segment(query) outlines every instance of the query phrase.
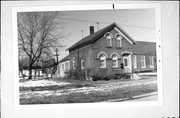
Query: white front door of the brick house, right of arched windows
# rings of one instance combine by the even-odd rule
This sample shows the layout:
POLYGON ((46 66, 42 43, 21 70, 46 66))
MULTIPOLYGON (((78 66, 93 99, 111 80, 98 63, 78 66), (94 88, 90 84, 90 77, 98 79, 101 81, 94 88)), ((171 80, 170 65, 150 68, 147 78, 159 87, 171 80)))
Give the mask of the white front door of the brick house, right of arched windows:
POLYGON ((127 73, 132 72, 131 66, 131 55, 123 56, 124 70, 127 73))

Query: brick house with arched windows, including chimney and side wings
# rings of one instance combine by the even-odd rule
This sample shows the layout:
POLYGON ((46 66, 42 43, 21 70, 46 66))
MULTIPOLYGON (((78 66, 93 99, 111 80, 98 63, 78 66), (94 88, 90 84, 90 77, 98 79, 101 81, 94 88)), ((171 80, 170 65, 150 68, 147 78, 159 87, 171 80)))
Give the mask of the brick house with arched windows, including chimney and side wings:
POLYGON ((65 71, 84 71, 88 78, 93 74, 110 75, 156 70, 156 43, 135 41, 116 23, 84 37, 60 61, 60 76, 65 71))

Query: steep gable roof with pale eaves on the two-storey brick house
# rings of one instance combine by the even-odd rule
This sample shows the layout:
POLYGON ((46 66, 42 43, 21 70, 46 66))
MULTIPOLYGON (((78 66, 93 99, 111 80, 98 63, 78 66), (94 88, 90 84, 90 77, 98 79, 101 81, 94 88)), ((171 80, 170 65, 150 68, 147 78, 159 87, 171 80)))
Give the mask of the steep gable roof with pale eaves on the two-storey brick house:
POLYGON ((131 40, 133 43, 136 43, 135 40, 125 31, 123 30, 120 26, 118 26, 116 23, 112 23, 109 26, 89 35, 69 47, 67 50, 75 50, 77 48, 81 48, 83 46, 89 45, 97 41, 101 36, 103 36, 106 32, 112 30, 114 27, 117 27, 129 40, 131 40))

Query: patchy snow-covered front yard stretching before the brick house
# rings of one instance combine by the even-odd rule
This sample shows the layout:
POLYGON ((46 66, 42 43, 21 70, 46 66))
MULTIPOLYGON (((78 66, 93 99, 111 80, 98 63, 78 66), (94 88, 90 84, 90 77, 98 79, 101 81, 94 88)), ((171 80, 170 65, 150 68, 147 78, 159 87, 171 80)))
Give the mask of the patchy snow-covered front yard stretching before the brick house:
POLYGON ((81 103, 131 97, 157 91, 156 79, 108 81, 102 83, 77 84, 53 80, 27 81, 20 83, 21 104, 81 103), (54 87, 55 89, 51 88, 54 87), (31 88, 40 89, 33 90, 31 88), (48 89, 44 89, 47 87, 48 89), (30 88, 30 89, 29 89, 30 88))

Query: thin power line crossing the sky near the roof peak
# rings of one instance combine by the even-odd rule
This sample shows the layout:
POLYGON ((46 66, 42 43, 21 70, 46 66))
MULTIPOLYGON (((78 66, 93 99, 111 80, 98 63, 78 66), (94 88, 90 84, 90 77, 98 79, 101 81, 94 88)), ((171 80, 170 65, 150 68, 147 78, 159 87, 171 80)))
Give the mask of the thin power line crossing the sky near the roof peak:
MULTIPOLYGON (((82 20, 82 19, 74 19, 74 18, 65 18, 65 17, 58 17, 59 19, 65 19, 65 20, 74 20, 74 21, 82 21, 82 22, 93 22, 97 23, 103 23, 103 24, 111 24, 110 22, 102 22, 102 21, 93 21, 93 20, 82 20)), ((137 25, 127 25, 127 24, 118 24, 125 27, 134 27, 134 28, 141 28, 141 29, 155 29, 154 27, 144 27, 144 26, 137 26, 137 25)))

